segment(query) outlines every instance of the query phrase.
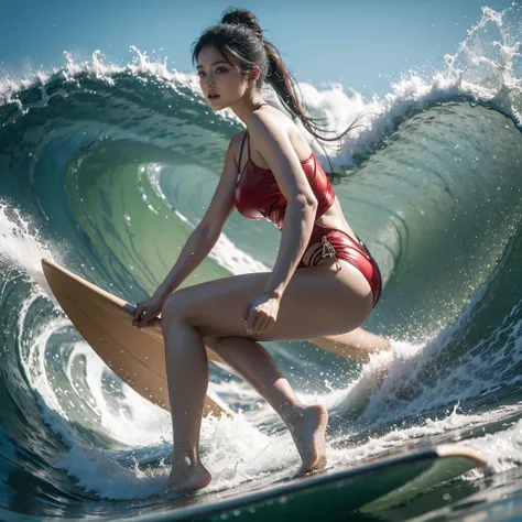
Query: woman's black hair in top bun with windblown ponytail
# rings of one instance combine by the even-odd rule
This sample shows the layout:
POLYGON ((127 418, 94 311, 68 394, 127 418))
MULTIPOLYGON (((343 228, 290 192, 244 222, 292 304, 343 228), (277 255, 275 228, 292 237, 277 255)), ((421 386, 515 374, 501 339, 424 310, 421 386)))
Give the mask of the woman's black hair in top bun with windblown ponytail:
MULTIPOLYGON (((305 113, 297 96, 298 90, 303 99, 297 81, 295 81, 284 65, 275 46, 263 39, 263 32, 258 19, 250 11, 246 9, 229 9, 222 15, 220 23, 206 29, 192 45, 192 62, 194 66, 197 64, 199 52, 207 45, 216 47, 228 63, 230 61, 227 54, 236 56, 240 61, 241 70, 244 74, 248 74, 257 65, 261 69, 257 79, 257 87, 261 89, 264 81, 271 85, 283 107, 292 116, 298 118, 303 122, 304 128, 318 141, 339 140, 350 130, 360 127, 356 124, 359 119, 358 117, 347 130, 337 137, 326 138, 318 133, 319 130, 326 133, 335 131, 324 129, 327 127, 327 123, 319 123, 324 118, 311 118, 305 113)), ((233 64, 230 63, 230 65, 233 64)))

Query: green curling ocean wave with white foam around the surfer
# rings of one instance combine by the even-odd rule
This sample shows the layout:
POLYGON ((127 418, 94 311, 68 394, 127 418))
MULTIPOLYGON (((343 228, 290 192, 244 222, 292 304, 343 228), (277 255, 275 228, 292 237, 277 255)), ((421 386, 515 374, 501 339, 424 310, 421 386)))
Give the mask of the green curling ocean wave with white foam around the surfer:
MULTIPOLYGON (((522 520, 518 42, 520 6, 483 9, 432 77, 412 73, 372 99, 301 84, 331 128, 363 113, 335 149, 311 145, 330 171, 328 153, 347 220, 380 263, 382 300, 365 327, 393 349, 359 365, 306 341, 267 347, 303 401, 329 409, 334 467, 457 441, 490 464, 350 520, 522 520)), ((170 509, 170 415, 83 341, 40 261, 129 302, 146 297, 204 215, 241 129, 208 108, 195 75, 138 48, 127 65, 95 53, 24 79, 0 72, 0 520, 153 520, 170 509)), ((270 270, 279 240, 235 213, 185 284, 270 270)), ((226 369, 210 376, 238 414, 203 423, 209 489, 292 475, 297 454, 275 414, 226 369)))

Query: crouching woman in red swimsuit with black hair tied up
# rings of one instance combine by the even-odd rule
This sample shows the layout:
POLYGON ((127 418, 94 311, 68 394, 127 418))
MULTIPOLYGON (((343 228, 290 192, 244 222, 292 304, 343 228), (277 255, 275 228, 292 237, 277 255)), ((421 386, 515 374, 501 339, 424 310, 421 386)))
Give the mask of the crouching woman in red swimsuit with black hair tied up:
MULTIPOLYGON (((301 472, 326 465, 327 412, 303 404, 259 341, 338 336, 358 328, 376 305, 379 269, 342 216, 325 172, 295 123, 265 104, 267 78, 285 107, 313 131, 290 73, 255 17, 229 10, 193 50, 200 88, 213 110, 229 107, 247 127, 230 140, 216 193, 180 259, 133 324, 162 313, 174 456, 168 488, 194 491, 210 482, 199 460, 208 385, 205 346, 248 380, 285 422, 301 472), (239 176, 238 176, 239 173, 239 176), (281 230, 272 272, 236 275, 173 291, 203 261, 233 208, 281 230)), ((314 134, 315 135, 315 134, 314 134)))

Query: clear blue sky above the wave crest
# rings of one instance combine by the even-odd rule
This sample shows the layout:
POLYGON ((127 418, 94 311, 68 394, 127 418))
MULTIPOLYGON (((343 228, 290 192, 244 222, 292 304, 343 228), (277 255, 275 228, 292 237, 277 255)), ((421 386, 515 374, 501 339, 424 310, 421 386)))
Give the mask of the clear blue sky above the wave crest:
POLYGON ((0 0, 0 77, 77 61, 100 50, 127 62, 135 45, 193 72, 191 44, 229 7, 250 9, 294 76, 340 83, 366 96, 389 91, 401 73, 432 75, 454 54, 481 7, 512 0, 0 0))

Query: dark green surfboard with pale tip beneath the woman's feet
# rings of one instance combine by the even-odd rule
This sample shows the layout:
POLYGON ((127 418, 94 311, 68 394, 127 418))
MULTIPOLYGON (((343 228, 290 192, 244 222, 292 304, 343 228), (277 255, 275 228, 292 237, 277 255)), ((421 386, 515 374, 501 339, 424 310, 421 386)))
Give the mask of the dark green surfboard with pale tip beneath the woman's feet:
MULTIPOLYGON (((401 449, 399 449, 401 452, 401 449)), ((356 466, 318 475, 263 478, 225 491, 199 493, 171 501, 145 521, 267 521, 348 520, 355 510, 377 513, 379 499, 399 503, 471 469, 486 459, 460 444, 438 445, 381 456, 356 466)), ((287 474, 287 471, 286 471, 287 474)))

